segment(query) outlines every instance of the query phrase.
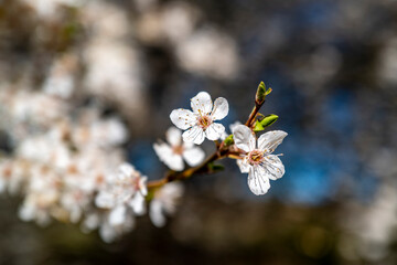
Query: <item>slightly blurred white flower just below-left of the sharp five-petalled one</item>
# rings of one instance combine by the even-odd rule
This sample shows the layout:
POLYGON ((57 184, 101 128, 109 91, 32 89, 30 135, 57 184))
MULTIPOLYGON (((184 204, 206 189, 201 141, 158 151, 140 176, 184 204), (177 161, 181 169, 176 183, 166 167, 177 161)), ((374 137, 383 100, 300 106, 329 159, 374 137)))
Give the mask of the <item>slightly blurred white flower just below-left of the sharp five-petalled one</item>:
POLYGON ((160 160, 170 169, 181 171, 184 169, 183 159, 189 166, 194 167, 203 161, 204 151, 192 142, 182 142, 182 132, 175 127, 170 127, 165 132, 167 141, 154 144, 153 148, 160 160))

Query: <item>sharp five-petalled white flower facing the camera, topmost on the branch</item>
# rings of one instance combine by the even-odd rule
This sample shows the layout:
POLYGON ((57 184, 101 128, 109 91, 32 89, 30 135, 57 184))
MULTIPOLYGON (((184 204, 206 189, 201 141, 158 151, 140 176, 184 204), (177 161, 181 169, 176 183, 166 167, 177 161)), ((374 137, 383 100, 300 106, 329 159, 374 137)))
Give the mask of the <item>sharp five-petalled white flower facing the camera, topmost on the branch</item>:
POLYGON ((172 110, 171 121, 180 129, 186 131, 182 137, 184 141, 201 145, 204 138, 217 140, 225 131, 225 127, 215 120, 223 119, 228 113, 228 103, 225 98, 216 98, 214 106, 211 96, 206 92, 198 93, 191 99, 193 112, 187 109, 172 110))

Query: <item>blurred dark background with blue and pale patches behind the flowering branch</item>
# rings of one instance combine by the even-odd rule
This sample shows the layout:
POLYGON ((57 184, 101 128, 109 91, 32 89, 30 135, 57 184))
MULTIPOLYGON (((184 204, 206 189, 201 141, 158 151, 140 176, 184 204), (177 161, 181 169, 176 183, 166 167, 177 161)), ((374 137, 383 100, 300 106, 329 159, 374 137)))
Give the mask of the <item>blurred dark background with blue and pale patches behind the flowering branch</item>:
POLYGON ((60 118, 111 117, 126 131, 100 137, 126 141, 105 160, 121 152, 159 179, 152 144, 172 109, 200 91, 223 96, 228 130, 260 81, 273 89, 261 113, 280 117, 270 129, 289 134, 268 194, 222 161, 226 171, 185 182, 165 227, 140 218, 112 244, 23 222, 23 197, 3 192, 0 264, 397 264, 397 1, 1 0, 0 59, 11 161, 60 118))

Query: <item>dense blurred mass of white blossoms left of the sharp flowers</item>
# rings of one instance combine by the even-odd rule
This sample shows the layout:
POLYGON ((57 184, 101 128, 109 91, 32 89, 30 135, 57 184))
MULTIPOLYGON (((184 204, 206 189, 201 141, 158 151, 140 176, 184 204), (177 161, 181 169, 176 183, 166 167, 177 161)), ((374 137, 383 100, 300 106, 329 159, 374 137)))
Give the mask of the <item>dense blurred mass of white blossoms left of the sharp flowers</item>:
MULTIPOLYGON (((0 193, 22 195, 23 221, 78 223, 84 232, 99 229, 106 242, 133 229, 147 211, 147 178, 125 159, 120 145, 128 131, 118 117, 101 117, 98 106, 72 114, 57 95, 12 87, 0 91, 0 126, 13 147, 0 157, 0 193)), ((151 200, 158 226, 183 192, 179 183, 163 189, 151 200), (179 192, 163 199, 163 189, 179 192)))

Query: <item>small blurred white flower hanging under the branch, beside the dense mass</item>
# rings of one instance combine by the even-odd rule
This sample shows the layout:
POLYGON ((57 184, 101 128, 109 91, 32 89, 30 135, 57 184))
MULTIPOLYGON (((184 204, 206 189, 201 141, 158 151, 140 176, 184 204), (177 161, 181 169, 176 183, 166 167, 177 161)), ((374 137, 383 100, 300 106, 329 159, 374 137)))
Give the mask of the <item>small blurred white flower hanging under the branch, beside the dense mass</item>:
POLYGON ((182 194, 183 186, 179 182, 164 184, 160 190, 155 191, 149 211, 150 220, 155 226, 161 227, 165 225, 164 214, 171 215, 175 212, 182 194))

